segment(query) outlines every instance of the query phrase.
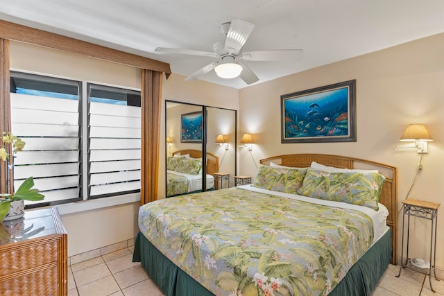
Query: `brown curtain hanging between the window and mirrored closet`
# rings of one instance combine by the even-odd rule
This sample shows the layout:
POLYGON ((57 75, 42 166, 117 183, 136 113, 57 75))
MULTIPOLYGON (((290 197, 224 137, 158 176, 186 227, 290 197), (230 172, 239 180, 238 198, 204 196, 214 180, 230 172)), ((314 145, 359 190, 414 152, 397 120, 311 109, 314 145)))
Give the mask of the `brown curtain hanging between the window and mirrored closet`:
POLYGON ((157 200, 162 72, 142 69, 141 204, 157 200))

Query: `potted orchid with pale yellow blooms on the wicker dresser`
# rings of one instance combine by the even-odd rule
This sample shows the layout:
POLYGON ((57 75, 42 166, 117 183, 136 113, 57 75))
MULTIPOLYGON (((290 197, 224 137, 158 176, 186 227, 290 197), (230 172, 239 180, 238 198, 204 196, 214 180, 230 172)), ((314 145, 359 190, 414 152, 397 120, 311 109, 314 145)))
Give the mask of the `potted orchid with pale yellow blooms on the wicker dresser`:
POLYGON ((19 208, 19 211, 23 211, 23 200, 37 201, 44 199, 44 195, 42 195, 38 189, 33 189, 33 177, 28 177, 28 179, 26 179, 22 185, 19 186, 19 189, 17 189, 17 191, 14 193, 12 186, 12 182, 14 182, 12 176, 13 157, 15 157, 15 154, 18 151, 23 150, 26 143, 10 132, 2 132, 1 136, 2 144, 0 146, 0 158, 2 161, 8 163, 10 193, 0 193, 0 222, 3 221, 5 216, 10 211, 10 205, 12 202, 20 202, 22 205, 18 205, 16 207, 19 208))

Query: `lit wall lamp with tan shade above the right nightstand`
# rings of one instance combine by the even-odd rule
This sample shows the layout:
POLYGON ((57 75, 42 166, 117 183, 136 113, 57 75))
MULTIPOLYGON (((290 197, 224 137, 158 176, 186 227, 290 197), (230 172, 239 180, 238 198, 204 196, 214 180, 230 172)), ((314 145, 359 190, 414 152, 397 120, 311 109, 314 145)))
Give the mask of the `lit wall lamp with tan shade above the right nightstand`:
POLYGON ((417 153, 427 153, 427 142, 433 141, 429 131, 421 123, 409 124, 400 137, 400 141, 413 142, 411 144, 396 146, 397 150, 416 148, 417 153))

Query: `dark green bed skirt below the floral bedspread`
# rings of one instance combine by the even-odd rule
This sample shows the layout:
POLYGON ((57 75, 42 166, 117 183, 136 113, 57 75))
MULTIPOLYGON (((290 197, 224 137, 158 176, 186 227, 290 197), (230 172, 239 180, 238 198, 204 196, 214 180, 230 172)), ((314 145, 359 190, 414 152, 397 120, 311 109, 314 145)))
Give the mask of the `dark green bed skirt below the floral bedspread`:
MULTIPOLYGON (((370 295, 384 275, 392 254, 391 232, 388 230, 370 250, 350 268, 329 296, 370 295)), ((141 262, 151 279, 167 296, 210 296, 209 290, 172 263, 139 232, 133 262, 141 262)))

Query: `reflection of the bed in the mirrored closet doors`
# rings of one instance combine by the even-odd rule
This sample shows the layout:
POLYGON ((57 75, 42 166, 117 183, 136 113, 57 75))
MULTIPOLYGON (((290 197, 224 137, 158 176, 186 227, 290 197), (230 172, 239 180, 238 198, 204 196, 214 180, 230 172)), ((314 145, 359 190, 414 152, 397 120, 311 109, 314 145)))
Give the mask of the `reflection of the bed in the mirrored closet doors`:
MULTIPOLYGON (((202 186, 202 151, 186 149, 172 153, 167 157, 167 196, 200 192, 202 186), (182 158, 183 157, 183 158, 182 158)), ((214 189, 214 173, 219 170, 219 157, 207 153, 207 175, 205 178, 207 190, 214 189)))

